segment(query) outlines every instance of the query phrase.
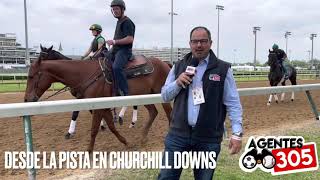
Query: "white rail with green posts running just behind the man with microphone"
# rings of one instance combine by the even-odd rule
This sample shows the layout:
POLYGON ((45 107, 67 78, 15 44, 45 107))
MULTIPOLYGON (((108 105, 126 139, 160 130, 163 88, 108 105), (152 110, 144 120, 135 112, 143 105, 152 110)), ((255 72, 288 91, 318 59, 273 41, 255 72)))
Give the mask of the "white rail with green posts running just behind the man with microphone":
MULTIPOLYGON (((306 84, 284 87, 241 88, 238 89, 238 92, 240 96, 265 95, 292 91, 305 92, 311 105, 311 109, 316 119, 319 120, 319 113, 310 93, 310 91, 312 90, 319 89, 320 84, 306 84)), ((23 116, 26 149, 27 152, 33 152, 32 128, 30 119, 31 115, 70 112, 75 110, 80 111, 133 105, 158 104, 162 102, 163 100, 160 94, 152 94, 126 97, 104 97, 90 99, 0 104, 0 118, 23 116)), ((35 169, 28 169, 28 177, 29 179, 36 178, 35 169)))

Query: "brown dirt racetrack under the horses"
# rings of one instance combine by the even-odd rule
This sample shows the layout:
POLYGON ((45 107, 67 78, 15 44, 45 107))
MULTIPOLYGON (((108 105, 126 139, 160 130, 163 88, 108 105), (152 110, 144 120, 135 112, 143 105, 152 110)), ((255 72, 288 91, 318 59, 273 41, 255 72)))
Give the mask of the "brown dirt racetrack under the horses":
MULTIPOLYGON (((298 81, 298 84, 319 83, 319 80, 298 81)), ((241 82, 238 88, 268 86, 268 82, 241 82)), ((50 94, 49 92, 48 94, 50 94)), ((320 91, 312 91, 315 103, 320 106, 320 91)), ((48 95, 47 94, 47 95, 48 95)), ((24 93, 3 93, 0 94, 0 104, 15 103, 23 101, 24 93)), ((267 107, 267 95, 241 97, 243 106, 243 127, 245 136, 262 135, 265 132, 274 132, 284 134, 291 128, 304 127, 312 125, 314 115, 307 101, 305 93, 296 93, 295 101, 291 102, 287 94, 285 102, 275 104, 273 101, 270 107, 267 107)), ((69 93, 61 94, 55 99, 71 99, 69 93)), ((279 97, 280 98, 280 97, 279 97)), ((139 144, 141 130, 147 118, 146 110, 139 107, 138 122, 135 128, 129 129, 131 121, 131 109, 125 116, 123 126, 117 125, 120 133, 127 138, 131 145, 129 150, 158 150, 163 148, 163 139, 168 130, 168 121, 166 116, 157 105, 159 115, 156 118, 149 132, 146 144, 139 144)), ((87 148, 90 139, 91 116, 87 111, 80 112, 77 132, 69 140, 65 140, 64 134, 69 128, 71 112, 56 113, 48 115, 39 115, 32 117, 33 145, 35 151, 84 151, 87 148)), ((23 123, 20 117, 4 118, 0 121, 0 179, 27 177, 26 170, 6 170, 4 168, 4 151, 24 151, 23 123)), ((228 127, 230 130, 230 127, 228 127)), ((272 135, 272 134, 268 134, 272 135)), ((110 131, 100 131, 95 144, 96 151, 121 151, 128 150, 122 145, 110 131)), ((46 177, 59 174, 72 174, 72 170, 39 170, 38 177, 46 177)))

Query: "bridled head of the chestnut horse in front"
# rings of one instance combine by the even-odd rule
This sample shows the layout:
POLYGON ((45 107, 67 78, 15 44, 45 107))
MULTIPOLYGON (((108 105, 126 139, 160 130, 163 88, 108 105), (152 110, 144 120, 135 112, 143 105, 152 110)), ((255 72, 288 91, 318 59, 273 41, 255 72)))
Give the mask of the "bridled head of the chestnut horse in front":
POLYGON ((51 86, 51 77, 41 68, 41 59, 30 66, 27 79, 27 88, 24 96, 25 102, 36 102, 51 86))

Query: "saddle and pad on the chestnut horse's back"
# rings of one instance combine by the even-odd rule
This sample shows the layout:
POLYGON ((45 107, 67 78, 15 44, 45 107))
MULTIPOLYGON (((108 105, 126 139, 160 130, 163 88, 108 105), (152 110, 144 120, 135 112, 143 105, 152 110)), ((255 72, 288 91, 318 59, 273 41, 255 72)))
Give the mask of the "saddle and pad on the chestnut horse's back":
MULTIPOLYGON (((106 60, 104 66, 104 69, 106 69, 105 78, 107 82, 112 82, 112 61, 106 60)), ((148 75, 151 74, 153 71, 154 67, 151 61, 143 55, 132 56, 128 61, 126 67, 124 68, 124 72, 126 74, 127 79, 148 75)))

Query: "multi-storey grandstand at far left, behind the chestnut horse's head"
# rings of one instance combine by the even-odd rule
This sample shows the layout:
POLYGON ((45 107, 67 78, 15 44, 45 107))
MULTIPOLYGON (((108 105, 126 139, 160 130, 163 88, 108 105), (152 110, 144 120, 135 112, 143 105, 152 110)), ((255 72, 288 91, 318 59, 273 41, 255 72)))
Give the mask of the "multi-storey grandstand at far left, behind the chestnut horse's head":
MULTIPOLYGON (((26 48, 17 43, 14 33, 0 34, 0 67, 21 67, 26 65, 26 48)), ((30 61, 38 58, 35 49, 29 49, 30 61)))

